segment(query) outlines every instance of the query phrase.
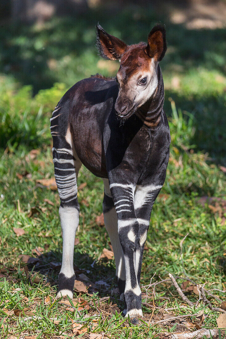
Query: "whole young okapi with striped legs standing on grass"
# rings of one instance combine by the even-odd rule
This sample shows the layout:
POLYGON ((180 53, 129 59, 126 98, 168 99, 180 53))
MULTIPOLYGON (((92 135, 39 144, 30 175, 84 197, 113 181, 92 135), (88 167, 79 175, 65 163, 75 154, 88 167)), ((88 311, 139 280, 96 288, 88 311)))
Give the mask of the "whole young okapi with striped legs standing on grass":
POLYGON ((63 256, 57 298, 73 297, 73 252, 79 222, 77 176, 81 164, 103 179, 103 214, 114 251, 120 296, 133 323, 142 317, 140 272, 153 203, 163 186, 170 131, 163 110, 159 61, 165 28, 148 43, 126 45, 97 25, 97 48, 119 60, 115 79, 91 76, 72 86, 53 112, 53 162, 60 196, 63 256))

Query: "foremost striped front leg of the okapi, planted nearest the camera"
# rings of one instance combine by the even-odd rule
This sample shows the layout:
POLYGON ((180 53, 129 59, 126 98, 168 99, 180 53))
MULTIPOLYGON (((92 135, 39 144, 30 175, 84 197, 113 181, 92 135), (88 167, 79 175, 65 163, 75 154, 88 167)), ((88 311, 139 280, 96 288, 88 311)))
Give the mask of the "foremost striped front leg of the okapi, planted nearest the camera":
POLYGON ((125 313, 133 323, 143 316, 141 309, 141 291, 137 280, 136 247, 138 242, 139 224, 136 220, 133 196, 135 185, 111 184, 115 209, 118 216, 118 235, 123 249, 126 284, 125 284, 125 313))

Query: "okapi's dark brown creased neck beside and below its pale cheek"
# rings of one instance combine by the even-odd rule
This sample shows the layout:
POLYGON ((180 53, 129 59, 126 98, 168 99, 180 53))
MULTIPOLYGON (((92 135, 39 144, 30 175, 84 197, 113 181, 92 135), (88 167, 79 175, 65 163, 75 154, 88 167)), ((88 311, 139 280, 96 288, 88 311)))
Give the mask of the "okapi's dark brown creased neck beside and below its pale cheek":
POLYGON ((156 127, 161 120, 164 104, 164 83, 158 66, 158 85, 153 95, 135 113, 143 123, 151 128, 156 127))

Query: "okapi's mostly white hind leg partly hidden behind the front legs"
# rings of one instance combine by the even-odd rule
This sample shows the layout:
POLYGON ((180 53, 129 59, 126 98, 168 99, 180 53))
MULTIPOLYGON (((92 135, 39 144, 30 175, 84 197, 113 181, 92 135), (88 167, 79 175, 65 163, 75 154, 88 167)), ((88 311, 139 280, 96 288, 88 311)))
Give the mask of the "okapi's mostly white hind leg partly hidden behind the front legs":
POLYGON ((119 236, 118 236, 118 217, 111 196, 109 181, 108 179, 103 179, 103 184, 105 186, 105 194, 103 198, 103 217, 105 221, 105 227, 108 232, 109 238, 111 240, 114 257, 115 257, 115 266, 116 266, 116 278, 118 282, 120 299, 124 298, 125 290, 125 260, 123 249, 121 247, 119 236))

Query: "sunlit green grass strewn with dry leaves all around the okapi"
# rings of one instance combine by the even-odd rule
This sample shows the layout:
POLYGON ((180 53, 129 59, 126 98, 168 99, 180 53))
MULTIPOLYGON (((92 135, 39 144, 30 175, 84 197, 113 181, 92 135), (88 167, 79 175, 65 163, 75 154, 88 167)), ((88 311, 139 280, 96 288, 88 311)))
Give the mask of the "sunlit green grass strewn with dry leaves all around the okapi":
MULTIPOLYGON (((74 264, 76 277, 85 274, 87 284, 97 288, 94 294, 74 295, 87 301, 89 310, 81 307, 79 311, 74 303, 73 308, 54 299, 62 255, 59 197, 56 191, 37 181, 53 177, 51 112, 75 81, 97 72, 116 73, 117 63, 110 66, 112 63, 96 56, 93 27, 97 21, 110 33, 132 43, 144 40, 159 19, 153 12, 144 12, 139 7, 125 10, 115 17, 115 23, 104 14, 101 10, 88 12, 85 17, 77 18, 76 24, 71 18, 54 18, 42 26, 24 25, 15 29, 5 25, 0 29, 4 36, 0 58, 0 331, 3 338, 67 337, 72 335, 73 322, 84 324, 81 333, 76 334, 83 338, 89 338, 90 333, 105 333, 109 338, 163 338, 165 332, 181 329, 180 322, 148 325, 152 307, 145 304, 146 320, 141 325, 133 326, 121 316, 123 304, 117 294, 111 293, 116 287, 114 260, 98 260, 103 248, 110 250, 105 227, 96 222, 102 212, 103 184, 84 167, 78 177, 78 185, 86 183, 86 186, 78 194, 79 243, 75 246, 74 264), (24 234, 17 236, 14 227, 22 228, 24 234), (21 254, 37 258, 35 265, 24 263, 21 254), (99 280, 107 285, 96 284, 99 280), (110 298, 101 299, 106 296, 110 298)), ((146 300, 144 286, 155 273, 154 283, 168 279, 168 273, 186 279, 182 262, 189 278, 205 283, 206 290, 226 289, 226 186, 222 167, 226 161, 225 30, 188 31, 170 22, 167 30, 169 52, 162 70, 172 143, 166 181, 153 206, 145 247, 143 301, 146 300), (181 254, 181 241, 187 233, 181 254)), ((179 284, 182 278, 177 278, 179 284)), ((149 304, 153 302, 152 292, 153 286, 148 290, 149 304)), ((225 300, 225 293, 217 290, 211 293, 225 300)), ((188 297, 193 302, 198 298, 191 292, 188 297)), ((203 310, 207 315, 203 326, 216 326, 217 312, 204 307, 202 301, 195 310, 188 307, 169 281, 155 286, 153 298, 156 306, 170 309, 168 312, 175 316, 203 310)), ((208 298, 220 306, 219 300, 208 298)), ((158 317, 159 309, 155 308, 153 319, 158 317)))

